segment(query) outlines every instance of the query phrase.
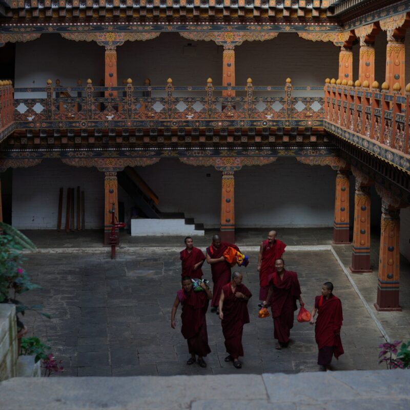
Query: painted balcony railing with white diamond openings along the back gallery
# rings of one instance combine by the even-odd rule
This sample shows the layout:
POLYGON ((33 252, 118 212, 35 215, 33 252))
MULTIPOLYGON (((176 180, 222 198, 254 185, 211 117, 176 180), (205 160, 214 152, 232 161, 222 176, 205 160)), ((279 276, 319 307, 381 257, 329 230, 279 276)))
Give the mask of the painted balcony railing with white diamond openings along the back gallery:
POLYGON ((133 86, 16 88, 17 129, 158 127, 322 127, 323 87, 133 86), (299 96, 316 91, 319 96, 299 96), (223 96, 230 92, 232 96, 223 96), (35 94, 34 94, 35 93, 35 94), (44 94, 44 96, 41 96, 44 94), (298 96, 294 96, 297 94, 298 96), (30 98, 30 96, 36 96, 30 98), (40 97, 38 97, 40 95, 40 97))

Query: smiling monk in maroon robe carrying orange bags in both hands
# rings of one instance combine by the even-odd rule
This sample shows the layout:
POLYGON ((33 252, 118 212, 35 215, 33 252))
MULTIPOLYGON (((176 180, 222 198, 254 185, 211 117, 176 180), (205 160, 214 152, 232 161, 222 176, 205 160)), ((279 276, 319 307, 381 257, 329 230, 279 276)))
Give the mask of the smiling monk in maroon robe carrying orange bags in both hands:
POLYGON ((288 347, 291 329, 293 327, 294 312, 297 310, 296 300, 302 305, 298 275, 296 272, 286 271, 282 258, 275 261, 275 272, 269 280, 270 288, 267 300, 263 302, 266 306, 272 306, 272 317, 274 326, 274 338, 278 340, 276 349, 288 347))

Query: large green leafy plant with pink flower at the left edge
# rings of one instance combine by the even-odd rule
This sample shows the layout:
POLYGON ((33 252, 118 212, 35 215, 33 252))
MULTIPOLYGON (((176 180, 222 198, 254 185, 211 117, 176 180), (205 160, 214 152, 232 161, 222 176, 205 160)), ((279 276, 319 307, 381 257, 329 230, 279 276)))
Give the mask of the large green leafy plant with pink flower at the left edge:
POLYGON ((35 250, 34 243, 7 223, 0 222, 0 229, 4 232, 4 235, 0 235, 0 303, 16 305, 17 329, 20 331, 24 329, 24 324, 19 314, 24 315, 27 310, 34 310, 47 318, 50 318, 50 315, 41 311, 41 305, 27 306, 16 299, 16 296, 22 293, 42 289, 31 281, 22 266, 22 251, 35 250))

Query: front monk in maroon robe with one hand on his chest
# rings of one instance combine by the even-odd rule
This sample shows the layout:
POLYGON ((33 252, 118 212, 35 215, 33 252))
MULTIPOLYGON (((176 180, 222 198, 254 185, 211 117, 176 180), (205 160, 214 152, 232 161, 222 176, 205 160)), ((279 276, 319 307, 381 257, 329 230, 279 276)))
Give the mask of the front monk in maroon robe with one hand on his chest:
POLYGON ((219 298, 219 319, 222 320, 222 333, 228 356, 226 362, 232 361, 236 368, 241 368, 238 360, 243 356, 243 325, 249 323, 248 300, 252 297, 249 289, 242 284, 242 274, 234 272, 232 281, 222 286, 219 298))

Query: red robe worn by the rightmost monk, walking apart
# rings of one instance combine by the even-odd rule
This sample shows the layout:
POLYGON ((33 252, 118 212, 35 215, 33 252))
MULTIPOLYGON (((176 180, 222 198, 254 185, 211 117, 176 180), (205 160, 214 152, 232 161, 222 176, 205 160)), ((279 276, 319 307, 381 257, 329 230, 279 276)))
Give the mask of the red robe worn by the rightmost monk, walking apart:
POLYGON ((315 326, 315 339, 319 350, 326 346, 333 346, 336 359, 344 353, 340 328, 343 322, 342 303, 338 297, 332 295, 326 300, 324 296, 316 296, 315 307, 318 316, 315 326), (338 336, 335 333, 339 333, 338 336))

